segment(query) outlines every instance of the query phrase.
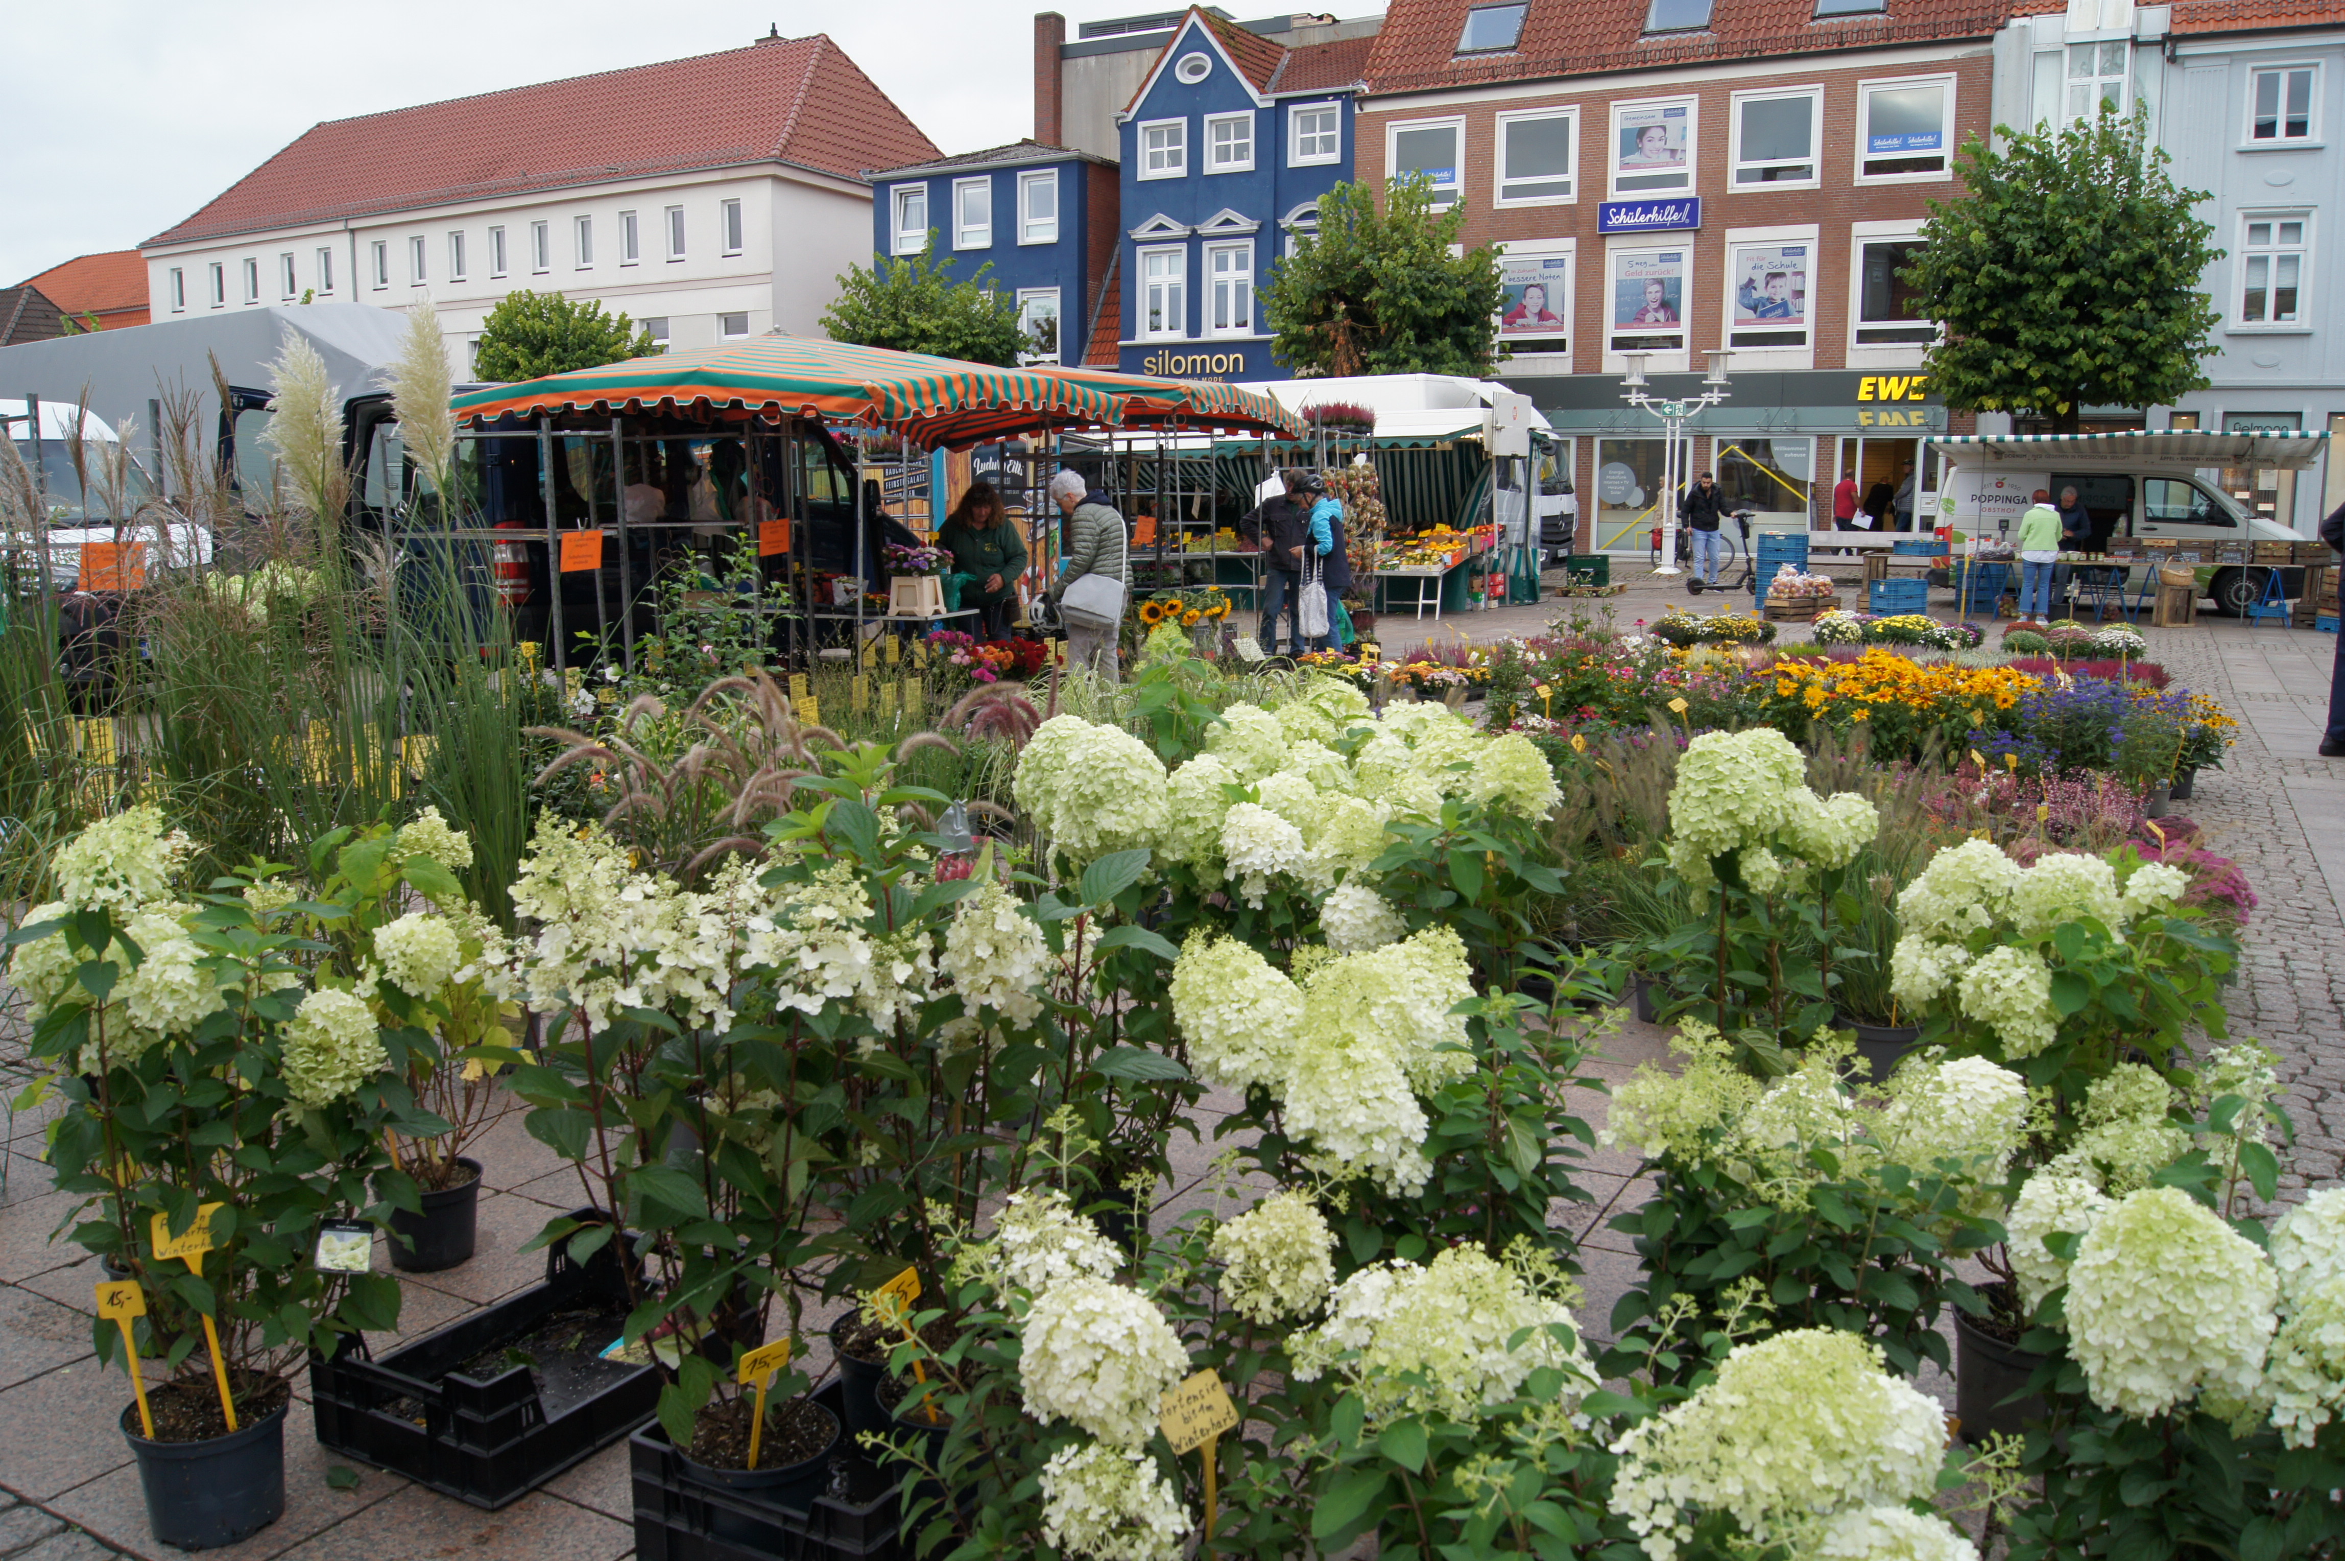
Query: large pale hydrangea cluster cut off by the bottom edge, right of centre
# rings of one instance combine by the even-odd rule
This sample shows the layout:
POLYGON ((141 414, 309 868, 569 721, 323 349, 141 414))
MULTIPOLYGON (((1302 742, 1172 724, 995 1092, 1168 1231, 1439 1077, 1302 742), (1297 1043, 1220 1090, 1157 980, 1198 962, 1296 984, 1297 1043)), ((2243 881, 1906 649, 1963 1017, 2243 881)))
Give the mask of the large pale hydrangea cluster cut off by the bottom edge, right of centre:
POLYGON ((1735 1345, 1710 1385, 1632 1425, 1611 1507, 1653 1561, 1674 1561, 1702 1512, 1763 1545, 1817 1514, 1930 1495, 1944 1444, 1944 1411, 1878 1345, 1794 1329, 1735 1345))

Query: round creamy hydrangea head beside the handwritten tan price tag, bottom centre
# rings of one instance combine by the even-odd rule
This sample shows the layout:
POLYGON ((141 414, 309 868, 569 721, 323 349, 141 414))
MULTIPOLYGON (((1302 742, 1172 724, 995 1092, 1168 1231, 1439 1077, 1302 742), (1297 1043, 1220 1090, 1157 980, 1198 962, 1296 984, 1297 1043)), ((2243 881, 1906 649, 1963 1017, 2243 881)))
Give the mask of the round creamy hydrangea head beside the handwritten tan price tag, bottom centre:
POLYGON ((1034 1296, 1018 1350, 1025 1411, 1074 1420, 1119 1448, 1144 1446, 1161 1399, 1189 1371, 1172 1324, 1147 1296, 1076 1275, 1034 1296))

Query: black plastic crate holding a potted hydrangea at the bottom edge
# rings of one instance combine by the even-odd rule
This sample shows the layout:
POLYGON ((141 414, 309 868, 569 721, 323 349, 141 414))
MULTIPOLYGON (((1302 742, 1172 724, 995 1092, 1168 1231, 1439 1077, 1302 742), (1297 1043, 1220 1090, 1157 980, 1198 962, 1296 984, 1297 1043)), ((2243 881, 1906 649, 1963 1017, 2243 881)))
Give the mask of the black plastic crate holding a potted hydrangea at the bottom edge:
MULTIPOLYGON (((840 1385, 814 1402, 847 1425, 840 1385)), ((654 1420, 628 1437, 635 1474, 635 1561, 910 1561, 896 1538, 896 1474, 844 1439, 830 1458, 830 1495, 800 1512, 743 1491, 720 1491, 685 1474, 685 1460, 654 1420)))

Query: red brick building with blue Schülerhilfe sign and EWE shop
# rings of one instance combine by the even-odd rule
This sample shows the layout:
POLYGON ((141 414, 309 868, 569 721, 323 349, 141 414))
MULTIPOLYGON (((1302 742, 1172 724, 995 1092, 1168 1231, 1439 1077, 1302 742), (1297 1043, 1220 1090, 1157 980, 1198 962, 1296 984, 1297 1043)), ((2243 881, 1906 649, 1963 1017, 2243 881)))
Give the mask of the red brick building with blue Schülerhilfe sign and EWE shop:
POLYGON ((1562 436, 1581 546, 1644 551, 1660 424, 1620 401, 1627 354, 1691 391, 1731 349, 1733 398, 1693 424, 1763 513, 1831 525, 1831 488, 1928 513, 1921 377, 1935 328, 1897 272, 1956 152, 1991 127, 2007 0, 1393 0, 1367 66, 1358 178, 1416 171, 1505 251, 1498 375, 1562 436), (1906 480, 1911 476, 1911 480, 1906 480))

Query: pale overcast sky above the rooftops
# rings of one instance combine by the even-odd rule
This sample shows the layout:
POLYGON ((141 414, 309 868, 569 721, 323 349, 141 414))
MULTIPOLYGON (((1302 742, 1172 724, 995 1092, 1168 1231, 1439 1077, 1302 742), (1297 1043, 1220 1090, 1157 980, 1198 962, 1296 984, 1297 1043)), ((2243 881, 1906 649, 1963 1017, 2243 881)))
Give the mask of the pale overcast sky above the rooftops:
MULTIPOLYGON (((1238 16, 1283 9, 1224 0, 1238 16)), ((1034 134, 1034 12, 1004 0, 68 0, 12 5, 0 286, 134 248, 319 120, 764 38, 830 38, 947 152, 1034 134)), ((1172 5, 1069 0, 1067 30, 1172 5)), ((1353 0, 1344 16, 1381 12, 1353 0)))

